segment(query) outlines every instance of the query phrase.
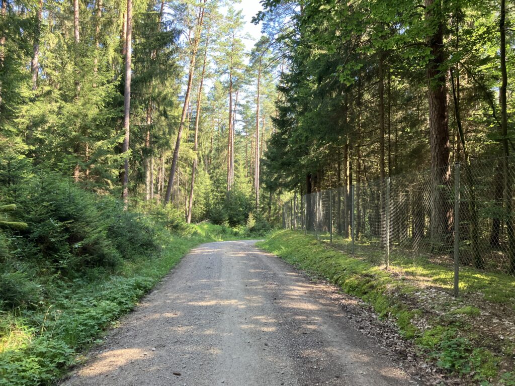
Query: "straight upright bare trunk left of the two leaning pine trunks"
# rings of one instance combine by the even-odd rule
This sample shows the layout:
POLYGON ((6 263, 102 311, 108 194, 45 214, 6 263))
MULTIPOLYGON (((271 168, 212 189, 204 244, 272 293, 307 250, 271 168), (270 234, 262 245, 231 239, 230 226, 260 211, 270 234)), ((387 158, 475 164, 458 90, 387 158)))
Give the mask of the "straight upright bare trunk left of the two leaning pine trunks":
MULTIPOLYGON (((78 0, 75 0, 78 1, 78 0)), ((122 152, 129 151, 130 134, 130 82, 131 82, 131 59, 132 59, 132 0, 127 0, 127 34, 125 37, 125 89, 124 89, 124 144, 122 152)), ((129 157, 125 155, 123 172, 122 198, 124 208, 129 204, 129 157)))

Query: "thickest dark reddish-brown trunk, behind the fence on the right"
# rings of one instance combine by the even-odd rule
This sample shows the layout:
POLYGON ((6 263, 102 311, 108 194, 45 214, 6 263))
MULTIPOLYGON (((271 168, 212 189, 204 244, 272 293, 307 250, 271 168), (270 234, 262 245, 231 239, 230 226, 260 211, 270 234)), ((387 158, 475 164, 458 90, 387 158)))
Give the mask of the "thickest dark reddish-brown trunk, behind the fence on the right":
POLYGON ((451 243, 452 208, 448 197, 451 174, 447 87, 442 69, 445 62, 442 5, 440 0, 425 0, 425 7, 425 21, 431 30, 426 41, 432 55, 427 65, 432 167, 431 237, 433 248, 448 249, 451 243))

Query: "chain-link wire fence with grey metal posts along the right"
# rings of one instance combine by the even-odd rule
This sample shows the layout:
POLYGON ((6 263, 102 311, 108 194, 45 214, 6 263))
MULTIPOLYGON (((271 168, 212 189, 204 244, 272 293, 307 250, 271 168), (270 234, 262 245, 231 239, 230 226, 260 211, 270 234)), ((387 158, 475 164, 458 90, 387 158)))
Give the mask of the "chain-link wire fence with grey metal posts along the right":
POLYGON ((459 267, 515 276, 514 199, 503 157, 296 195, 282 220, 378 266, 454 270, 457 295, 459 267))

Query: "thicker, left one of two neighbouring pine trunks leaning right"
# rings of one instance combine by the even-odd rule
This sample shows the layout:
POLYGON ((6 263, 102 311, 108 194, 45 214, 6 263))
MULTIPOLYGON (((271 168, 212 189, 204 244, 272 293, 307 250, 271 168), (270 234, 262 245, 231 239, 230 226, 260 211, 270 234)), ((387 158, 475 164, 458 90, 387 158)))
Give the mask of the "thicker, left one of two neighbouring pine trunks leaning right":
POLYGON ((171 190, 174 186, 175 172, 176 172, 176 168, 177 168, 177 162, 179 160, 179 148, 181 146, 182 131, 184 129, 184 121, 186 119, 188 104, 190 103, 190 93, 191 93, 191 87, 192 87, 192 83, 193 83, 193 74, 195 73, 195 59, 197 56, 198 44, 200 42, 200 34, 202 32, 202 23, 204 20, 204 10, 205 10, 204 6, 205 6, 206 1, 207 0, 204 0, 204 2, 202 3, 202 5, 199 7, 199 10, 198 10, 195 36, 194 36, 193 42, 192 42, 192 52, 191 52, 191 57, 190 57, 190 71, 188 72, 188 82, 186 85, 186 94, 184 95, 184 104, 182 106, 181 121, 179 123, 179 129, 177 132, 177 140, 175 142, 174 157, 171 161, 170 176, 168 177, 168 185, 166 186, 166 194, 164 196, 165 205, 168 204, 168 202, 170 201, 171 190))

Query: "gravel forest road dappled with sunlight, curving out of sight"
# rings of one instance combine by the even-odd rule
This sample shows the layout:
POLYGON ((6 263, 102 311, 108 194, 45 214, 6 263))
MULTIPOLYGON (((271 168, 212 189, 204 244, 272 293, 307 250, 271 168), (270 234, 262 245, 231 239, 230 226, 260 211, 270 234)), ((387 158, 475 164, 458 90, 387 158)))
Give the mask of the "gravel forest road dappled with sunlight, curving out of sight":
POLYGON ((203 244, 64 384, 413 385, 346 312, 254 241, 203 244))

